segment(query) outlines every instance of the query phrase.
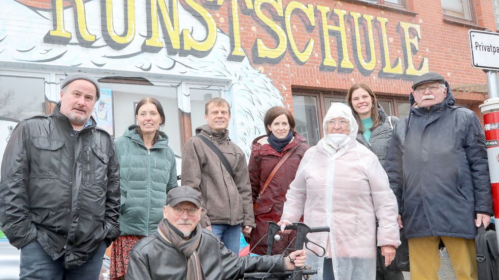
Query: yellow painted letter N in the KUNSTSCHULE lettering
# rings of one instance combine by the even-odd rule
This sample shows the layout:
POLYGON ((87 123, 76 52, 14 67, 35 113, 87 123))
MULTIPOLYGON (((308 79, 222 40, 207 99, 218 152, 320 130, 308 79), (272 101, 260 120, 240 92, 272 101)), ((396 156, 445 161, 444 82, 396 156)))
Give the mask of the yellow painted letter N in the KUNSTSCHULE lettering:
POLYGON ((162 31, 163 37, 167 44, 167 48, 179 50, 180 49, 180 34, 179 34, 179 11, 178 11, 178 1, 177 0, 150 0, 150 6, 148 9, 150 14, 148 18, 150 20, 150 37, 146 39, 142 48, 149 51, 159 52, 163 47, 163 43, 159 39, 159 22, 158 18, 161 16, 163 19, 162 31), (164 3, 169 1, 171 3, 171 10, 164 3), (158 11, 159 7, 159 11, 158 11), (158 13, 159 12, 159 13, 158 13), (170 17, 172 14, 172 17, 170 17), (172 22, 173 19, 173 22, 172 22), (168 36, 166 36, 168 33, 168 36))

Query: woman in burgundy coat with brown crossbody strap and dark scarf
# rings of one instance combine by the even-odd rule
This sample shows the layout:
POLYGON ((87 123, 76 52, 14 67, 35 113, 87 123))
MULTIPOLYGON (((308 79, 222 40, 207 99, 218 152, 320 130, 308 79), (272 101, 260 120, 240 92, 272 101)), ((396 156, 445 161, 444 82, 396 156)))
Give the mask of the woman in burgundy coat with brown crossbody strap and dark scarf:
MULTIPOLYGON (((270 108, 265 113, 263 124, 267 135, 259 136, 253 140, 249 158, 248 170, 253 203, 280 159, 292 148, 296 148, 258 199, 258 207, 254 211, 256 228, 253 229, 250 236, 250 248, 254 247, 251 253, 258 255, 267 254, 267 237, 262 239, 267 234, 268 229, 268 224, 265 222, 277 223, 280 221, 289 184, 294 180, 303 154, 309 148, 309 145, 305 143, 306 139, 294 131, 294 118, 288 109, 280 106, 270 108)), ((281 241, 274 243, 272 255, 283 253, 293 237, 294 235, 284 234, 281 241)), ((289 251, 286 253, 289 254, 289 251)))

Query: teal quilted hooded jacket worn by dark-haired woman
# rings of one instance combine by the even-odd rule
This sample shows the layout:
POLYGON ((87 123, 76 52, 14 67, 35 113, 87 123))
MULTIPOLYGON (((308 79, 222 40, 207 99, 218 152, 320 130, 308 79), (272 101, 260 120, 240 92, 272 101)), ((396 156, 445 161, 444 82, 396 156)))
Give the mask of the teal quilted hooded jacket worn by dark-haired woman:
POLYGON ((162 132, 148 150, 135 125, 115 143, 120 162, 121 235, 149 235, 163 218, 168 191, 177 186, 175 154, 162 132))

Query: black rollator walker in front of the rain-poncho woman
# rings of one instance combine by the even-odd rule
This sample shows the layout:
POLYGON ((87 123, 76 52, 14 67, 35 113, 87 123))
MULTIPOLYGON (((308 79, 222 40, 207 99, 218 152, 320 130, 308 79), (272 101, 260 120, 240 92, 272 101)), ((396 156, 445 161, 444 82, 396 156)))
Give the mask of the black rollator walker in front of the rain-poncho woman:
MULTIPOLYGON (((274 222, 268 222, 269 223, 269 231, 267 233, 267 255, 272 254, 272 247, 274 245, 275 241, 279 241, 281 239, 281 236, 279 234, 276 234, 277 231, 279 231, 281 228, 278 224, 274 222)), ((318 257, 323 257, 325 255, 325 249, 324 247, 310 241, 307 238, 308 233, 312 232, 329 232, 329 227, 328 226, 322 226, 322 227, 309 227, 304 223, 292 223, 291 225, 288 225, 284 228, 290 229, 290 230, 295 230, 296 231, 296 237, 293 239, 293 241, 290 242, 290 244, 286 247, 286 251, 295 251, 295 250, 302 250, 304 248, 309 249, 307 246, 309 243, 312 243, 319 248, 322 249, 322 254, 319 255, 316 252, 312 251, 315 255, 318 257), (294 247, 291 247, 291 245, 294 244, 294 247)), ((281 257, 284 258, 285 255, 281 254, 281 257)), ((270 269, 272 270, 272 268, 270 269)), ((260 271, 260 272, 252 272, 252 273, 244 273, 244 280, 301 280, 306 277, 307 275, 314 275, 317 274, 317 269, 303 269, 303 268, 298 268, 295 267, 294 270, 292 271, 285 271, 285 272, 269 272, 269 271, 260 271)))

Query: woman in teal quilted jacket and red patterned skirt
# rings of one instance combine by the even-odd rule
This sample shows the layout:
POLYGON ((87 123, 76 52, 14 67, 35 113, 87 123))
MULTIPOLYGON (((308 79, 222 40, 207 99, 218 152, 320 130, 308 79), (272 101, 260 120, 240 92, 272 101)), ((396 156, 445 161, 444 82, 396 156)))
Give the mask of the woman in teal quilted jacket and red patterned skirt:
POLYGON ((168 136, 159 131, 164 112, 154 98, 144 98, 135 109, 137 125, 116 138, 120 162, 121 235, 113 243, 110 278, 124 279, 130 249, 157 230, 170 189, 177 186, 175 154, 168 136))

